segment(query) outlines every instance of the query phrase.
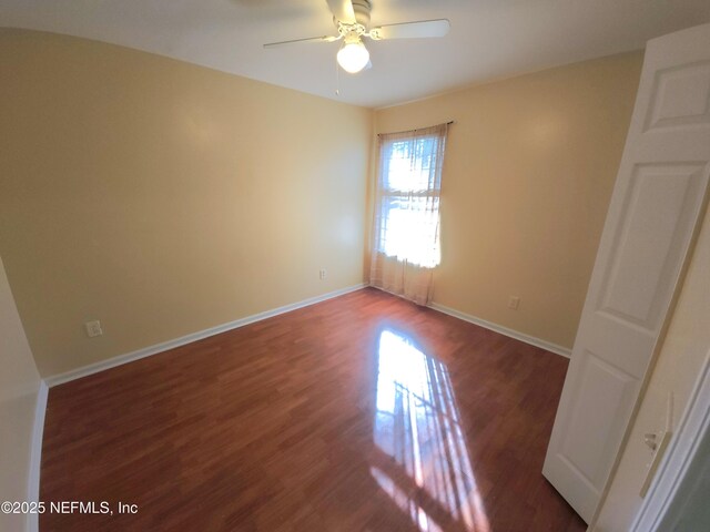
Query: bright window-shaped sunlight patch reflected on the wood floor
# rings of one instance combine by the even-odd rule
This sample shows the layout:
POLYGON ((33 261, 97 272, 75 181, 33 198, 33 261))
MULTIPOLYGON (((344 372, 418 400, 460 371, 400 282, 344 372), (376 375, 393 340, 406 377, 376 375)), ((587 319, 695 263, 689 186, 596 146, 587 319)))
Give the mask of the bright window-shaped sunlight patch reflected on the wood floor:
POLYGON ((388 460, 371 473, 419 530, 490 531, 446 366, 388 329, 379 336, 374 426, 388 460))

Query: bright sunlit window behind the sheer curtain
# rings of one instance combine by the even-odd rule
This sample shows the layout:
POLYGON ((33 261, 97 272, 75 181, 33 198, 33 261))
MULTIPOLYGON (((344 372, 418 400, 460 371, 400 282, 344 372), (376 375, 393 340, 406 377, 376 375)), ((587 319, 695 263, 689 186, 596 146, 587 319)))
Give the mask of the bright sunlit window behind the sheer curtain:
POLYGON ((374 250, 439 264, 439 194, 447 125, 381 135, 374 250))

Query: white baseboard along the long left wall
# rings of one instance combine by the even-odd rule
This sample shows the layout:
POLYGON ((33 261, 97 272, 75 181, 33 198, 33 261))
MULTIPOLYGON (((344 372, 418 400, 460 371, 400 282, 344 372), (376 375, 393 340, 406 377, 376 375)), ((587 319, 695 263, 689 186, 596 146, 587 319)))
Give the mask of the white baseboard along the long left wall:
POLYGON ((182 336, 180 338, 175 338, 174 340, 163 341, 154 346, 144 347, 143 349, 139 349, 136 351, 126 352, 125 355, 119 355, 118 357, 112 357, 106 360, 101 360, 99 362, 90 364, 88 366, 72 369, 63 374, 53 375, 51 377, 47 377, 45 380, 50 387, 63 385, 64 382, 81 379, 82 377, 98 374, 99 371, 103 371, 105 369, 115 368, 116 366, 122 366, 124 364, 129 364, 134 360, 139 360, 141 358, 150 357, 152 355, 156 355, 159 352, 163 352, 169 349, 174 349, 175 347, 184 346, 186 344, 191 344, 193 341, 201 340, 210 336, 219 335, 220 332, 225 332, 227 330, 236 329, 239 327, 244 327, 245 325, 250 325, 255 321, 261 321, 262 319, 272 318, 274 316, 278 316, 280 314, 290 313, 298 308, 303 308, 310 305, 314 305, 316 303, 325 301, 326 299, 332 299, 334 297, 343 296, 345 294, 349 294, 351 291, 359 290, 365 286, 367 286, 367 284, 361 283, 358 285, 348 286, 347 288, 342 288, 339 290, 329 291, 321 296, 311 297, 308 299, 293 303, 291 305, 284 305, 283 307, 265 310, 263 313, 254 314, 245 318, 230 321, 229 324, 217 325, 216 327, 211 327, 209 329, 193 332, 191 335, 182 336))

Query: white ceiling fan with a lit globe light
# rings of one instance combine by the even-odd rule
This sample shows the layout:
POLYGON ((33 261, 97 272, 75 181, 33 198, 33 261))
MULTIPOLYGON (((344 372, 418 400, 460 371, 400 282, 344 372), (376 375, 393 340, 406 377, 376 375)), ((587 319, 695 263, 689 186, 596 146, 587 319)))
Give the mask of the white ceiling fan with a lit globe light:
POLYGON ((343 44, 337 52, 337 62, 343 70, 355 74, 372 64, 369 62, 369 52, 363 43, 364 37, 374 41, 444 37, 450 28, 447 19, 423 20, 369 28, 371 0, 326 0, 326 2, 333 13, 333 22, 337 28, 337 35, 271 42, 264 44, 264 48, 276 48, 302 42, 335 42, 343 40, 343 44))

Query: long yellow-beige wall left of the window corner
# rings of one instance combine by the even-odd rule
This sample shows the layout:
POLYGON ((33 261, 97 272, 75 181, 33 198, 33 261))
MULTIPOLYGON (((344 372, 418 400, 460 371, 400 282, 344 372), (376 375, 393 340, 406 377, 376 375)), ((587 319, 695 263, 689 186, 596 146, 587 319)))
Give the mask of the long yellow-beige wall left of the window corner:
POLYGON ((0 30, 0 253, 41 375, 363 280, 372 111, 49 33, 0 30))

